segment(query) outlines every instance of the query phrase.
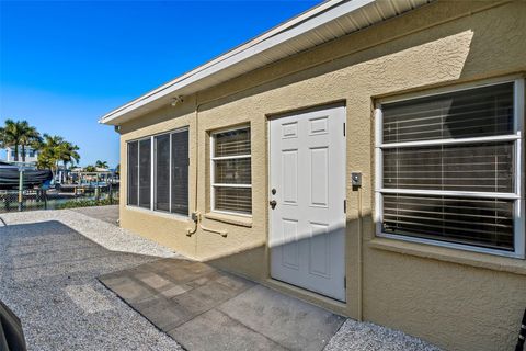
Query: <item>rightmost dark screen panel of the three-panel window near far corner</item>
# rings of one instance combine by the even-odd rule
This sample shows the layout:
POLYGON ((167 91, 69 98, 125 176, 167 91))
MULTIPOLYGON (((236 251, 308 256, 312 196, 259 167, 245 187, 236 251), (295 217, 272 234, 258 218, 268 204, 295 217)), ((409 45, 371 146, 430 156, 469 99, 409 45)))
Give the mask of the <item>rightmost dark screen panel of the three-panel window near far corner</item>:
POLYGON ((171 157, 171 212, 188 215, 188 131, 173 133, 171 157))

